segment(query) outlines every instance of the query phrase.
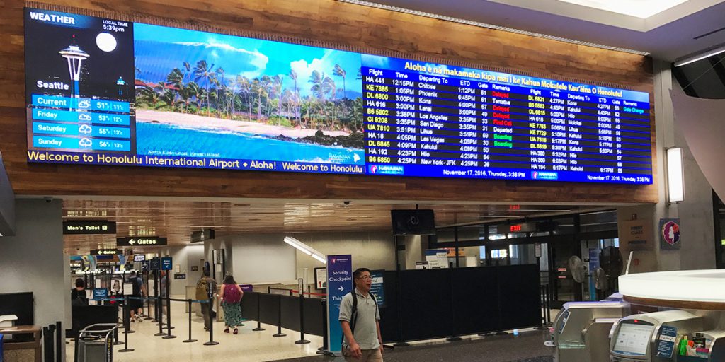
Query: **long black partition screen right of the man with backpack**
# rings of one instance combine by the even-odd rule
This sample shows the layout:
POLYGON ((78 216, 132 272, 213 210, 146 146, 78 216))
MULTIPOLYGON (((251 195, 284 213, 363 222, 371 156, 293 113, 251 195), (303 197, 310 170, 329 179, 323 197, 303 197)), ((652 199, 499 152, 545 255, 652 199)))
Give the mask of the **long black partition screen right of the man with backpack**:
POLYGON ((399 291, 396 281, 396 272, 386 271, 385 342, 541 324, 539 271, 533 264, 399 271, 399 291))

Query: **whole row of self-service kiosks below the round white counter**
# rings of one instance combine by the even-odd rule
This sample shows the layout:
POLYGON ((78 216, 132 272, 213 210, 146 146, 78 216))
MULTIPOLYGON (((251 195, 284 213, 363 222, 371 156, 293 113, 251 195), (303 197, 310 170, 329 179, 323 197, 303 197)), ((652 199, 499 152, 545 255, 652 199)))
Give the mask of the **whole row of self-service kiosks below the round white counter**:
POLYGON ((555 362, 725 362, 725 331, 671 310, 629 316, 623 301, 566 303, 552 330, 555 362))

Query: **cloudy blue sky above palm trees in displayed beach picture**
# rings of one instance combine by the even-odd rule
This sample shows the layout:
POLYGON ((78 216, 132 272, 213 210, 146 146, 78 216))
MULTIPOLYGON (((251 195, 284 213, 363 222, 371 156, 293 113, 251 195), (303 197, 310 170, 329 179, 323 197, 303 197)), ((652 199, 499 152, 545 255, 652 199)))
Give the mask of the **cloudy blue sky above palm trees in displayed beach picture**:
MULTIPOLYGON (((228 80, 236 75, 249 80, 262 75, 284 75, 284 88, 294 88, 294 81, 287 76, 294 69, 297 87, 302 96, 307 96, 313 70, 331 77, 341 90, 342 78, 332 72, 335 64, 340 64, 347 72, 348 96, 362 93, 363 85, 355 79, 360 68, 357 53, 141 23, 134 24, 133 38, 136 68, 140 70, 137 77, 147 82, 164 81, 173 68, 183 70, 183 62, 191 64, 193 70, 196 62, 204 59, 214 65, 213 70, 222 67, 228 80)), ((337 97, 342 97, 341 91, 337 97)))

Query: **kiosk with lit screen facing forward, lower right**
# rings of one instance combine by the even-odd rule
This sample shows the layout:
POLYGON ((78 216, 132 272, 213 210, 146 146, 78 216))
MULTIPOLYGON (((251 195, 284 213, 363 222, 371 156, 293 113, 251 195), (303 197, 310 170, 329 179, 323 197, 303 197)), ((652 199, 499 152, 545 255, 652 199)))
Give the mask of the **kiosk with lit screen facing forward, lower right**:
POLYGON ((673 310, 627 316, 612 329, 611 361, 683 361, 684 358, 677 358, 679 340, 702 328, 703 319, 687 311, 673 310))

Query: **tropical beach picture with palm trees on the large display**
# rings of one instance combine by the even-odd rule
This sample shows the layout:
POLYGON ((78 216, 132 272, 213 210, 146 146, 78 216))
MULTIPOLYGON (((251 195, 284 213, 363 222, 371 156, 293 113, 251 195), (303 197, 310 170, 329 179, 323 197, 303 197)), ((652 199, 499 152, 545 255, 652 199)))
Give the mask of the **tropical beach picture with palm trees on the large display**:
POLYGON ((136 153, 364 164, 361 56, 134 24, 136 153))

